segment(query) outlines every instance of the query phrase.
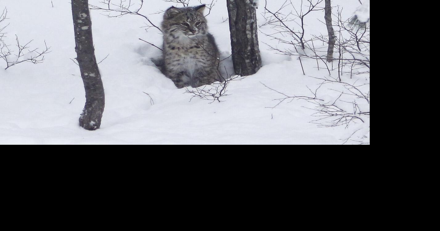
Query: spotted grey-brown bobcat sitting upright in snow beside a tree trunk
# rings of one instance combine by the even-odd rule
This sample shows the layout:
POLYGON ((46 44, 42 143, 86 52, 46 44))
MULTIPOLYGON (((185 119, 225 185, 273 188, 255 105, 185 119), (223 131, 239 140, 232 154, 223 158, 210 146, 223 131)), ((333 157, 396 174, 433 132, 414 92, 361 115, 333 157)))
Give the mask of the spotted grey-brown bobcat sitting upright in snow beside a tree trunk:
POLYGON ((170 7, 161 29, 164 36, 162 72, 177 88, 200 87, 220 81, 219 51, 208 33, 205 5, 170 7))

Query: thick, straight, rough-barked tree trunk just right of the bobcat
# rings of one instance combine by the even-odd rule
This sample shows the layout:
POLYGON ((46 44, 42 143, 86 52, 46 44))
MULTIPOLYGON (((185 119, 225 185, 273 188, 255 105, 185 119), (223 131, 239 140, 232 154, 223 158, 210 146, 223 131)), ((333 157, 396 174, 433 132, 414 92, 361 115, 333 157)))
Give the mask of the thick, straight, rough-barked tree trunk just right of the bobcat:
POLYGON ((227 0, 227 10, 235 74, 255 74, 262 65, 254 1, 227 0))

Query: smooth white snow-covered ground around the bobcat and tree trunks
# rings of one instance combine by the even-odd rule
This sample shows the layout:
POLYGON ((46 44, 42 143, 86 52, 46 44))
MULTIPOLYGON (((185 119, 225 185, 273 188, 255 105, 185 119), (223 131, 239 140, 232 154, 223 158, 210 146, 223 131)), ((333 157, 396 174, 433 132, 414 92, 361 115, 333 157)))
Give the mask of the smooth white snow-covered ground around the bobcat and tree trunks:
MULTIPOLYGON (((99 5, 99 1, 89 3, 99 5)), ((268 7, 275 9, 284 1, 268 0, 268 7)), ((177 89, 150 61, 160 50, 139 38, 158 46, 162 38, 155 28, 147 32, 141 28, 144 18, 107 18, 104 12, 92 11, 96 57, 102 60, 108 55, 99 64, 106 105, 101 128, 84 130, 78 125, 84 86, 79 68, 71 60, 76 57, 71 6, 65 0, 52 2, 54 7, 51 0, 0 1, 0 10, 7 7, 8 11, 9 26, 4 32, 9 44, 15 44, 17 35, 22 43, 33 40, 33 48, 43 48, 44 41, 51 47, 51 53, 37 65, 21 63, 4 70, 6 64, 0 60, 0 144, 341 144, 356 129, 310 123, 316 118, 305 100, 269 108, 282 95, 263 84, 287 95, 310 95, 307 87, 314 89, 322 82, 310 76, 326 77, 328 73, 317 70, 316 61, 310 59, 302 60, 303 75, 298 58, 269 51, 266 44, 283 45, 261 33, 264 66, 257 74, 232 82, 227 88, 230 95, 221 98, 224 102, 209 104, 202 99, 190 101, 191 94, 177 89)), ((171 4, 145 2, 140 13, 159 25, 162 14, 154 13, 171 4)), ((220 51, 227 56, 231 44, 225 2, 218 0, 207 18, 220 51)), ((357 0, 334 0, 333 4, 344 7, 346 18, 359 7, 357 0)), ((326 26, 319 22, 323 11, 314 11, 308 18, 308 34, 326 33, 326 26)), ((259 24, 263 23, 264 18, 259 17, 259 24)), ((266 32, 270 29, 261 27, 266 32)), ((225 65, 230 68, 230 61, 225 65)), ((324 95, 331 98, 338 92, 324 95)))

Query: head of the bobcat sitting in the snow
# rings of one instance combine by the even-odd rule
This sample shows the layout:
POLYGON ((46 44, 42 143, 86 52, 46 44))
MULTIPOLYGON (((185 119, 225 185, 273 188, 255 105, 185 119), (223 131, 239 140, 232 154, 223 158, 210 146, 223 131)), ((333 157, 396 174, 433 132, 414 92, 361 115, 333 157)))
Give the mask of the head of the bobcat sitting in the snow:
POLYGON ((205 35, 208 27, 203 16, 205 5, 197 7, 170 7, 165 11, 162 30, 175 37, 197 37, 205 35))

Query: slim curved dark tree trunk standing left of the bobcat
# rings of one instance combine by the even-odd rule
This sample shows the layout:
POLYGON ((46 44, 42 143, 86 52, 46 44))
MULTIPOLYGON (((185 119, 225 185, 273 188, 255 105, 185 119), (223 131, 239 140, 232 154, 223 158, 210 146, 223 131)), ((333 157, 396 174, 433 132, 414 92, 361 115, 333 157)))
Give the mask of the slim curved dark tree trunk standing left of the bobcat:
POLYGON ((81 113, 80 126, 87 130, 96 130, 101 126, 104 112, 104 87, 96 64, 93 47, 92 20, 88 9, 88 0, 72 0, 73 27, 75 30, 75 51, 81 70, 85 89, 85 106, 81 113))

